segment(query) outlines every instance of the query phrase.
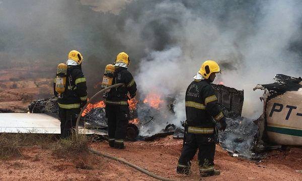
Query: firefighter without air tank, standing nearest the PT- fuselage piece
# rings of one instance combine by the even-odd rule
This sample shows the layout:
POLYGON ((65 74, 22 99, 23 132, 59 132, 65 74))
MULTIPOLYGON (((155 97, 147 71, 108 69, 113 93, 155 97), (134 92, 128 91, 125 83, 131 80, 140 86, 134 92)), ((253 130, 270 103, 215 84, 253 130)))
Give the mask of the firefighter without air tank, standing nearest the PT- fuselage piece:
POLYGON ((220 68, 215 61, 205 61, 187 88, 185 97, 187 120, 184 124, 184 144, 176 168, 177 173, 190 174, 190 161, 199 149, 200 175, 220 174, 219 170, 214 170, 215 143, 217 142, 215 128, 217 126, 219 130, 224 131, 226 123, 210 84, 218 72, 220 68))

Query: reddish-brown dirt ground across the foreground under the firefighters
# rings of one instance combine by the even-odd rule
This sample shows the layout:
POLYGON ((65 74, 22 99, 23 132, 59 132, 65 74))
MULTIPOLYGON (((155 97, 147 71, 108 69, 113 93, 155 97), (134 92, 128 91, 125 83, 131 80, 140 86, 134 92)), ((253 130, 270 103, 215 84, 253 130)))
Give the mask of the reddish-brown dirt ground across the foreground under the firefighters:
MULTIPOLYGON (((125 150, 110 148, 106 141, 91 147, 123 158, 158 175, 175 180, 302 180, 302 149, 274 150, 260 162, 235 158, 216 146, 215 168, 218 176, 200 178, 196 157, 193 173, 176 173, 182 140, 171 136, 152 142, 127 142, 125 150)), ((53 155, 38 146, 21 149, 23 158, 0 163, 0 180, 157 180, 132 167, 92 153, 53 155)))

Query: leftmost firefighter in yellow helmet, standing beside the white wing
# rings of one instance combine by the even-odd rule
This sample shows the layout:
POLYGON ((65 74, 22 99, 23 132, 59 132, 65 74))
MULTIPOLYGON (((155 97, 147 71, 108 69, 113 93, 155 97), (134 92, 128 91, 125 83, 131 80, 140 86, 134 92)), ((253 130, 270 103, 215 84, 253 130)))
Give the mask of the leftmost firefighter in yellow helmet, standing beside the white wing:
POLYGON ((65 91, 58 95, 54 90, 59 105, 62 138, 68 138, 71 135, 78 116, 81 116, 79 115, 81 108, 87 103, 87 86, 82 72, 82 61, 83 56, 79 51, 72 50, 68 53, 65 91))

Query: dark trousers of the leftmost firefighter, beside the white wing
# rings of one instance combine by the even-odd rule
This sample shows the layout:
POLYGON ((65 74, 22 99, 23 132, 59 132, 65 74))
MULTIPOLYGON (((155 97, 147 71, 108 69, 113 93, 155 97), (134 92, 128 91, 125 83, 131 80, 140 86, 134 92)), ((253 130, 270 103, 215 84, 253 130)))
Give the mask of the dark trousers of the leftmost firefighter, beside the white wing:
POLYGON ((81 112, 80 108, 63 109, 59 108, 59 118, 61 120, 61 137, 68 138, 71 135, 72 129, 77 123, 78 116, 81 112))

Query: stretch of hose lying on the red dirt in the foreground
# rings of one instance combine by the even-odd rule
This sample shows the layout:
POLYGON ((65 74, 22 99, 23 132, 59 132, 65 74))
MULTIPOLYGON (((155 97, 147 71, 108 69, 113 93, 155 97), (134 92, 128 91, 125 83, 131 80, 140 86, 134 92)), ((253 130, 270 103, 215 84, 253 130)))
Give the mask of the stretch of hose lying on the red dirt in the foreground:
POLYGON ((157 174, 155 174, 155 173, 153 173, 153 172, 150 172, 150 171, 148 171, 148 170, 145 170, 145 169, 143 169, 143 168, 141 168, 141 167, 139 167, 139 166, 137 166, 137 165, 134 165, 134 164, 132 164, 132 163, 130 163, 130 162, 124 160, 124 159, 117 158, 117 157, 115 157, 115 156, 111 156, 111 155, 109 155, 109 154, 106 154, 106 153, 102 153, 102 152, 96 151, 96 150, 94 150, 94 149, 92 149, 92 148, 88 148, 88 149, 89 149, 89 151, 91 151, 91 152, 94 153, 94 154, 97 154, 97 155, 99 155, 99 156, 104 156, 104 157, 106 157, 106 158, 110 158, 110 159, 119 161, 119 162, 121 162, 121 163, 124 163, 124 164, 126 164, 126 165, 128 165, 128 166, 131 166, 132 168, 135 168, 135 169, 137 169, 137 170, 139 170, 139 171, 141 171, 141 172, 143 172, 143 173, 145 173, 145 174, 147 174, 147 175, 149 175, 149 176, 152 176, 152 177, 154 177, 154 178, 157 178, 157 179, 159 179, 159 180, 164 180, 164 181, 175 181, 175 180, 173 180, 173 179, 165 178, 165 177, 159 176, 159 175, 157 175, 157 174))

